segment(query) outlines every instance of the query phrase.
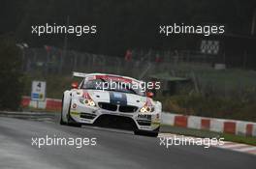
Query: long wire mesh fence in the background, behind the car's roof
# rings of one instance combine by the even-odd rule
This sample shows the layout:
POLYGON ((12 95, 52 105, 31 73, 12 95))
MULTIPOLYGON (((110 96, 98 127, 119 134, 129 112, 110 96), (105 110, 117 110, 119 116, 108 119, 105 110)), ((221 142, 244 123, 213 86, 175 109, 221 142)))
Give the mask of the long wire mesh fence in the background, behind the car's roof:
POLYGON ((131 52, 131 59, 96 55, 56 47, 24 49, 23 70, 41 71, 45 74, 68 74, 73 70, 86 72, 109 72, 142 77, 154 72, 173 72, 182 63, 201 63, 210 67, 214 56, 189 51, 137 51, 131 52))

